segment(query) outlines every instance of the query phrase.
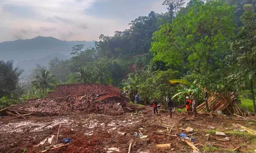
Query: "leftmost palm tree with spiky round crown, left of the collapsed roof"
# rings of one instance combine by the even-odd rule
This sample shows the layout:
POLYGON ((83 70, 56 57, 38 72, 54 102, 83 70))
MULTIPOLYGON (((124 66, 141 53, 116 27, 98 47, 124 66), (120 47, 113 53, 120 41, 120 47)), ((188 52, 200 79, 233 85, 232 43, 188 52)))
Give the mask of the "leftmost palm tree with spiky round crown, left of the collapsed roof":
POLYGON ((57 84, 55 76, 45 68, 39 70, 39 74, 34 77, 31 86, 39 92, 46 92, 48 89, 54 89, 57 84))

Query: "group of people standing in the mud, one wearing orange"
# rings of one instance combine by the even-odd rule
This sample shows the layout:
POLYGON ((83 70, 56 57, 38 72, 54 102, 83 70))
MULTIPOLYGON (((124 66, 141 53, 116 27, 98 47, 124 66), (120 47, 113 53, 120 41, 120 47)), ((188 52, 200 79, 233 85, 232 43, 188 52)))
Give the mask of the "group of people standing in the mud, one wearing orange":
MULTIPOLYGON (((154 114, 158 114, 158 111, 157 111, 157 100, 156 98, 153 99, 153 108, 154 108, 154 114)), ((194 116, 196 117, 197 116, 197 106, 196 106, 196 98, 193 96, 192 97, 192 101, 189 99, 188 96, 186 96, 185 98, 185 107, 186 107, 186 111, 187 111, 187 114, 189 112, 189 109, 190 109, 190 105, 192 105, 192 109, 193 109, 193 113, 194 113, 194 116)), ((172 118, 172 110, 173 110, 173 100, 169 98, 167 98, 167 106, 168 106, 168 111, 169 111, 169 117, 172 118)))

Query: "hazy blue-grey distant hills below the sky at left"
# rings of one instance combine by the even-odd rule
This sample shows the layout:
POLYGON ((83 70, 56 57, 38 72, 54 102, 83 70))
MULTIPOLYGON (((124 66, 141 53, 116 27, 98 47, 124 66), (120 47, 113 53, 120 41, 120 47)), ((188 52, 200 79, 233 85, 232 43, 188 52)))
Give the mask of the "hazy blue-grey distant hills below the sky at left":
POLYGON ((26 40, 5 41, 0 43, 0 57, 1 60, 14 60, 16 63, 44 58, 54 53, 70 55, 72 47, 77 44, 92 47, 95 41, 63 41, 42 36, 26 40))

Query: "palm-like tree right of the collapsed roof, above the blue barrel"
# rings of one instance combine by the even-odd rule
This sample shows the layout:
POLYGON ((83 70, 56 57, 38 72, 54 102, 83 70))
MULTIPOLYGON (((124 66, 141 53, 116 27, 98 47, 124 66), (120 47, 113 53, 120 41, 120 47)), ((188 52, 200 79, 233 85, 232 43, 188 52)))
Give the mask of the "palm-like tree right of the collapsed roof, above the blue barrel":
POLYGON ((123 93, 130 98, 132 102, 135 100, 135 95, 138 93, 139 77, 138 74, 129 74, 127 80, 122 81, 123 93))

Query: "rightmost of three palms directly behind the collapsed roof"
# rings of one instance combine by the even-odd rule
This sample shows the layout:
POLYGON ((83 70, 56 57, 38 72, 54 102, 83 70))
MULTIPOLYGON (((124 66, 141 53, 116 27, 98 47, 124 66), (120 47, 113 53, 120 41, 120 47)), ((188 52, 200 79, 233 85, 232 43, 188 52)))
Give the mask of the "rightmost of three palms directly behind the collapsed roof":
POLYGON ((108 68, 103 67, 101 63, 98 63, 95 65, 92 73, 94 74, 92 77, 92 80, 94 82, 104 84, 104 85, 112 83, 111 72, 109 71, 108 68))

